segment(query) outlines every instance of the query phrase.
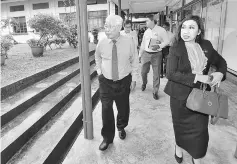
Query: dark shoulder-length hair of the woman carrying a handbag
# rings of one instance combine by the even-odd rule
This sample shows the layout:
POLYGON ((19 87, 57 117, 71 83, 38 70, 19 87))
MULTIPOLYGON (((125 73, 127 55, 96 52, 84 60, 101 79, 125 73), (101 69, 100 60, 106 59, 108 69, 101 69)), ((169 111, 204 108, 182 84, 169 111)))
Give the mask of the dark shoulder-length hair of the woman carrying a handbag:
POLYGON ((196 42, 197 43, 201 43, 202 40, 204 39, 204 26, 203 26, 203 22, 202 22, 202 19, 199 17, 199 16, 196 16, 196 15, 191 15, 187 18, 185 18, 181 24, 179 25, 178 29, 177 29, 177 32, 175 34, 175 37, 174 37, 174 40, 173 40, 173 45, 177 45, 181 40, 181 28, 182 28, 182 25, 185 21, 188 21, 188 20, 193 20, 197 23, 198 25, 198 29, 201 31, 201 33, 196 37, 196 42))

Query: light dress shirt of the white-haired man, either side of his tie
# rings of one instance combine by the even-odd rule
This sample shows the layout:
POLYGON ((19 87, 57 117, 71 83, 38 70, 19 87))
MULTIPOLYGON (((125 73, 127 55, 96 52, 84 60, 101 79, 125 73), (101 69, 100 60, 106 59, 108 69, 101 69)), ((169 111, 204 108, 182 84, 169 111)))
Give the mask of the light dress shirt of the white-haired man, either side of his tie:
MULTIPOLYGON (((131 73, 132 81, 137 81, 139 78, 138 55, 134 50, 134 41, 132 37, 120 35, 117 39, 116 46, 119 80, 131 73)), ((104 37, 99 40, 95 51, 97 73, 102 73, 107 79, 112 79, 112 48, 112 40, 104 37)))

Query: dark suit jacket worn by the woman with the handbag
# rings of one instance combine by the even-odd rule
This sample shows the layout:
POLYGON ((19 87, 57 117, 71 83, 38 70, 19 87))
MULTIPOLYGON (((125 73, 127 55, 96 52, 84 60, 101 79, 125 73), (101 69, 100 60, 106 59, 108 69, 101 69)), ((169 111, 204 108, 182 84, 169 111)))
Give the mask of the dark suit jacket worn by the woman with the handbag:
MULTIPOLYGON (((227 64, 225 59, 218 54, 208 40, 202 40, 200 46, 208 58, 204 75, 208 74, 211 65, 216 67, 216 72, 223 73, 225 80, 227 72, 227 64)), ((199 88, 201 83, 194 83, 195 74, 192 73, 191 64, 188 59, 187 49, 184 41, 181 40, 175 46, 170 47, 167 58, 166 77, 168 82, 164 89, 165 93, 178 100, 187 99, 192 88, 199 88)))

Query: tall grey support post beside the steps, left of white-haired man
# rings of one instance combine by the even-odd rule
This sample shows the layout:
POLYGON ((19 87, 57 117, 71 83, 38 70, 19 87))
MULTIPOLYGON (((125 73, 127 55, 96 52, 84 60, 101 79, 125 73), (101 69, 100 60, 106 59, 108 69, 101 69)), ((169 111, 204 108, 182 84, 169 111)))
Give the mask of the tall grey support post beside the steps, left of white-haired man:
POLYGON ((76 0, 76 9, 84 138, 91 140, 93 139, 93 119, 87 27, 87 0, 76 0))

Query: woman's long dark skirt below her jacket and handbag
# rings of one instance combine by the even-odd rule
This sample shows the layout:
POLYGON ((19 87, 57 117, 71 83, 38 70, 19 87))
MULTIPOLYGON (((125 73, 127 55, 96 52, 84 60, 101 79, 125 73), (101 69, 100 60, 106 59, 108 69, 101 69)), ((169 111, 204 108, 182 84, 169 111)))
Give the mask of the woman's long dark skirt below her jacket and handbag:
POLYGON ((204 157, 209 141, 208 115, 194 112, 186 107, 186 100, 172 97, 170 107, 176 144, 194 159, 204 157))

